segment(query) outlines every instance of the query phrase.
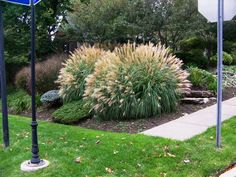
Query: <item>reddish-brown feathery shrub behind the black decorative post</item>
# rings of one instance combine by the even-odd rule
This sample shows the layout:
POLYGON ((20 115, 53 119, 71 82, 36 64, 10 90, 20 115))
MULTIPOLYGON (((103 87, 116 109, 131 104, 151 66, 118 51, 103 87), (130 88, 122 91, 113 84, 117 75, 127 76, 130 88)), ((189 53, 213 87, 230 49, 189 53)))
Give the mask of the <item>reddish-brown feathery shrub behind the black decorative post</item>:
MULTIPOLYGON (((61 63, 66 58, 65 55, 54 55, 48 60, 36 64, 36 90, 42 94, 55 89, 61 63)), ((31 72, 30 66, 21 69, 15 78, 17 88, 31 93, 31 72)))

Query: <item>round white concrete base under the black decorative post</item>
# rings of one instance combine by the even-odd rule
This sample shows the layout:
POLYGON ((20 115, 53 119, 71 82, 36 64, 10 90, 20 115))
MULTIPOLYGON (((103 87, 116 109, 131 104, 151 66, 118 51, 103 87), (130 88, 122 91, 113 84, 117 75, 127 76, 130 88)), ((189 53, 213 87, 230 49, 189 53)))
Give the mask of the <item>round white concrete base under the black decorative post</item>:
POLYGON ((32 164, 30 160, 27 160, 21 164, 20 169, 21 171, 24 171, 24 172, 33 172, 33 171, 46 168, 48 166, 49 166, 49 161, 47 160, 41 160, 40 163, 38 164, 32 164))

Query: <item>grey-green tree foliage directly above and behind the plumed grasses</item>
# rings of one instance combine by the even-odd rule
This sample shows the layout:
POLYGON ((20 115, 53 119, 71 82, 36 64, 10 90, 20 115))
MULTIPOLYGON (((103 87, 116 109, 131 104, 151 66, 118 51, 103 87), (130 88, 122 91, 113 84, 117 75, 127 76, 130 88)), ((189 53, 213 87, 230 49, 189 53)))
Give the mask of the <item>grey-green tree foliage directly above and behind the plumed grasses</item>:
POLYGON ((89 43, 152 41, 176 49, 199 22, 194 0, 78 0, 72 9, 63 32, 70 41, 89 43))

